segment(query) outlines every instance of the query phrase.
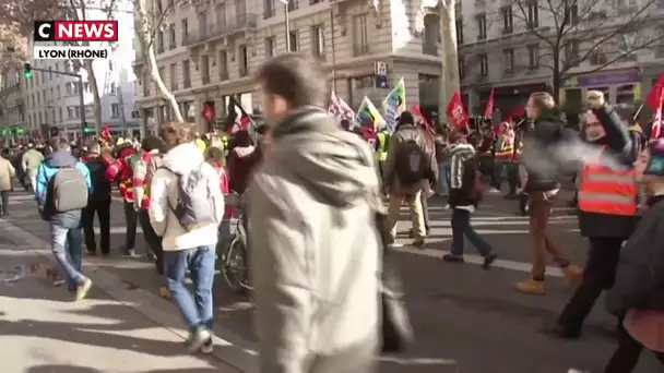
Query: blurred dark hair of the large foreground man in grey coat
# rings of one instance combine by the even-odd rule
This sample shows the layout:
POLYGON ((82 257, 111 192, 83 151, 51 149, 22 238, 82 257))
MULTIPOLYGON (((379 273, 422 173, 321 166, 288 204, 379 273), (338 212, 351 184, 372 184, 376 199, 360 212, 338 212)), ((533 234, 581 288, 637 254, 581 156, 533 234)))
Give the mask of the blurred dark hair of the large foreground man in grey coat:
POLYGON ((265 62, 256 77, 268 93, 282 96, 293 108, 324 106, 328 76, 305 53, 285 53, 265 62))

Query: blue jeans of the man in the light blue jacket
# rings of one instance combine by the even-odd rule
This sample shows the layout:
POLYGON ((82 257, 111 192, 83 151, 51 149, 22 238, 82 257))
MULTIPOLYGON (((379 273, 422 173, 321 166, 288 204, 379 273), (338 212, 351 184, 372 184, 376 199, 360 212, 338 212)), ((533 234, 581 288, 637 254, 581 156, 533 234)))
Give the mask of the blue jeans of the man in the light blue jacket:
POLYGON ((83 260, 83 230, 50 226, 51 251, 67 276, 67 288, 75 291, 86 277, 81 273, 83 260))

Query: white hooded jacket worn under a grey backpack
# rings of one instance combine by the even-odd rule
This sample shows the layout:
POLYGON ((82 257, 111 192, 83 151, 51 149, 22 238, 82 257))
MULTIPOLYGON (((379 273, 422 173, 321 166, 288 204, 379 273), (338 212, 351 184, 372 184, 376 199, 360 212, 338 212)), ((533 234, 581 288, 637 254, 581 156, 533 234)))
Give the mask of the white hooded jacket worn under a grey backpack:
POLYGON ((164 250, 186 250, 217 243, 217 226, 224 217, 224 195, 218 176, 206 164, 203 154, 193 144, 178 145, 164 155, 164 168, 156 170, 150 184, 150 222, 157 236, 162 237, 164 250), (210 178, 215 203, 216 224, 210 224, 188 231, 174 213, 178 202, 178 177, 174 172, 187 173, 202 166, 202 172, 210 178), (173 206, 173 207, 171 207, 173 206))

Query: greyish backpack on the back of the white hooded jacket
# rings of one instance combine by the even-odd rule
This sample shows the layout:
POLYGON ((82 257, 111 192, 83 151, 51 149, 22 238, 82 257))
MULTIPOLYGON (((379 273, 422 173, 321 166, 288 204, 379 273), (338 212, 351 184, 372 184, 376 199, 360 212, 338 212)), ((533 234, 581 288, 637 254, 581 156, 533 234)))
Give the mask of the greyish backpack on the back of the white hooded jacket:
POLYGON ((210 180, 203 173, 205 163, 181 175, 171 171, 178 177, 178 202, 171 210, 177 216, 180 226, 187 230, 195 229, 208 224, 217 224, 215 210, 217 201, 212 194, 212 183, 218 185, 218 179, 210 180))

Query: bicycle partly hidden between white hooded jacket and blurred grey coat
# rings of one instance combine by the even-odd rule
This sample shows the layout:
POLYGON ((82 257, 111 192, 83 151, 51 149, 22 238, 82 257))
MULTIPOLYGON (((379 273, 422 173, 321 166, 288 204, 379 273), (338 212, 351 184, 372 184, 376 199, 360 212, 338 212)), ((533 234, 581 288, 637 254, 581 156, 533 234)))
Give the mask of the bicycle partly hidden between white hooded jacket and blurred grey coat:
MULTIPOLYGON (((245 231, 245 214, 241 208, 241 196, 233 193, 226 196, 226 205, 236 207, 237 217, 229 221, 232 231, 220 232, 223 238, 217 246, 220 270, 230 290, 246 293, 252 290, 249 280, 247 232, 245 231)), ((220 227, 221 228, 221 227, 220 227)))

